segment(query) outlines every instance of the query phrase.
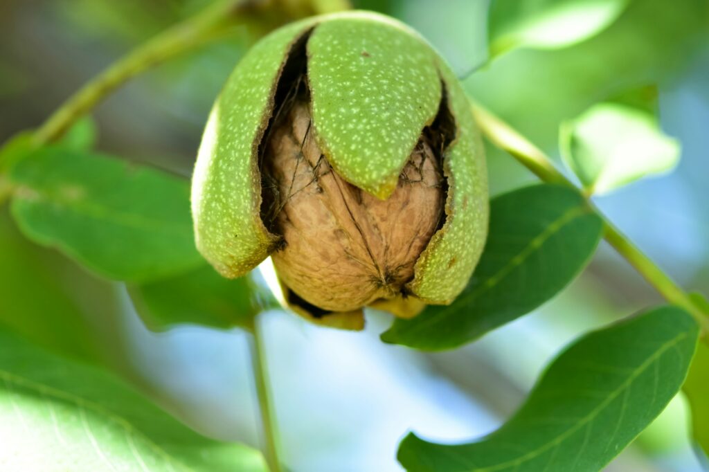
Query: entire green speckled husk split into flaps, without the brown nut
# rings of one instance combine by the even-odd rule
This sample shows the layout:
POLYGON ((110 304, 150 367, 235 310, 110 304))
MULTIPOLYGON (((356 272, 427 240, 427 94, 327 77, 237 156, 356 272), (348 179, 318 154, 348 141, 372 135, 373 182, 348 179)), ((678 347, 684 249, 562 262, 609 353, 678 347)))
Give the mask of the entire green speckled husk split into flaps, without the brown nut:
POLYGON ((416 33, 376 13, 335 13, 294 23, 261 40, 237 65, 214 105, 194 171, 199 251, 221 274, 236 277, 278 244, 260 218, 257 150, 281 67, 290 47, 311 28, 308 84, 318 144, 338 174, 374 196, 387 198, 396 188, 423 128, 435 119, 445 84, 456 124, 443 159, 446 220, 406 288, 425 303, 452 302, 486 239, 483 147, 450 68, 416 33))

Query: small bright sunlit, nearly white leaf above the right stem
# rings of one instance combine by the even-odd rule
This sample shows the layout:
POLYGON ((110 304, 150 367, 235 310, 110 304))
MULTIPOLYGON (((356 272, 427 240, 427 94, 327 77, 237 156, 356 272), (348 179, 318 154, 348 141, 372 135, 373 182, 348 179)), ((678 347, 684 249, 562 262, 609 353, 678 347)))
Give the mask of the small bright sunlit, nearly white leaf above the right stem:
POLYGON ((668 172, 679 162, 679 142, 662 133, 651 113, 617 103, 598 103, 562 123, 559 140, 564 161, 589 193, 668 172))

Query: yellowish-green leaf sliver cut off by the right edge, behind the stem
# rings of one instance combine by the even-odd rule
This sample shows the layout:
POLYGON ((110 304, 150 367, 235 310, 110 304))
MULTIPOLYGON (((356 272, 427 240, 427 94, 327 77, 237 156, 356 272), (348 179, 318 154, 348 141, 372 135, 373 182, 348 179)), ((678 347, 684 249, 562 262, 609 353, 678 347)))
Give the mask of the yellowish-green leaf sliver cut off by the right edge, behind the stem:
MULTIPOLYGON (((700 309, 709 316, 709 302, 698 293, 691 294, 700 309)), ((703 339, 692 359, 687 380, 682 387, 692 410, 692 435, 703 454, 709 456, 709 344, 703 339)))

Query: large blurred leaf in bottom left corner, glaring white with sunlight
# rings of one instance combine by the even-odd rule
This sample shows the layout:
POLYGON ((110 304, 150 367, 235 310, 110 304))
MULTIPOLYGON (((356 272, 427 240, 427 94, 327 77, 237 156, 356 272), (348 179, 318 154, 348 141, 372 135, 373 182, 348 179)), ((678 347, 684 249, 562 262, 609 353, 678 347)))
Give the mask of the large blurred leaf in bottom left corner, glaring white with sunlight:
POLYGON ((0 331, 0 464, 13 471, 266 471, 261 454, 207 439, 104 371, 0 331))

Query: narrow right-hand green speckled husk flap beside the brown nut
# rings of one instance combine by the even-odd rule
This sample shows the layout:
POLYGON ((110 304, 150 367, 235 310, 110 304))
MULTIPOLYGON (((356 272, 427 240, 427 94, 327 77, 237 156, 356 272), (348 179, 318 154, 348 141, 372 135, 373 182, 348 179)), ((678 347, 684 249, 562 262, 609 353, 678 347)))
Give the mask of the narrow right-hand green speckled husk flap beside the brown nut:
POLYGON ((443 159, 446 222, 421 253, 407 287, 425 303, 445 305, 463 290, 483 252, 489 197, 484 148, 470 103, 447 64, 439 64, 456 123, 456 139, 443 159))

